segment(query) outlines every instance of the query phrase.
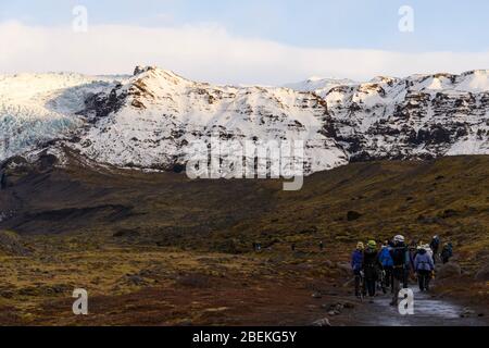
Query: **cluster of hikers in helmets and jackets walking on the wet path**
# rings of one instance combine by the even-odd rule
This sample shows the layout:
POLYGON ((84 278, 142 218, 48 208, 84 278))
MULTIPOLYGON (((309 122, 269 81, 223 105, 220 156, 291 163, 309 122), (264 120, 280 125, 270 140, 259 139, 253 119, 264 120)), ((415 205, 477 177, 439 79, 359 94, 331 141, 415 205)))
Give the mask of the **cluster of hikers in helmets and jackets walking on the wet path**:
POLYGON ((451 243, 446 243, 441 252, 440 245, 438 236, 429 245, 416 241, 408 245, 404 236, 398 235, 392 240, 385 240, 380 249, 375 240, 366 245, 359 241, 351 257, 355 296, 375 297, 378 288, 385 294, 390 288, 393 295, 390 304, 397 306, 401 285, 408 288, 412 274, 417 277, 419 290, 428 291, 436 262, 448 263, 453 256, 451 243))

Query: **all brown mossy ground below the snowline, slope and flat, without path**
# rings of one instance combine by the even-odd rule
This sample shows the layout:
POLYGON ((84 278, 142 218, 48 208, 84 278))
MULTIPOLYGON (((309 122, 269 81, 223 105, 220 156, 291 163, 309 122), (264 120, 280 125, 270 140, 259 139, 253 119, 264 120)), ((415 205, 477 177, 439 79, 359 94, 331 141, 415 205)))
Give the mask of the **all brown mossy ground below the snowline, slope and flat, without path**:
POLYGON ((351 297, 337 262, 356 241, 396 234, 452 241, 464 274, 436 294, 489 303, 488 284, 474 282, 489 254, 489 157, 354 163, 297 192, 274 181, 92 171, 76 158, 7 183, 0 324, 305 325, 351 297), (71 311, 77 287, 89 291, 87 318, 71 311))

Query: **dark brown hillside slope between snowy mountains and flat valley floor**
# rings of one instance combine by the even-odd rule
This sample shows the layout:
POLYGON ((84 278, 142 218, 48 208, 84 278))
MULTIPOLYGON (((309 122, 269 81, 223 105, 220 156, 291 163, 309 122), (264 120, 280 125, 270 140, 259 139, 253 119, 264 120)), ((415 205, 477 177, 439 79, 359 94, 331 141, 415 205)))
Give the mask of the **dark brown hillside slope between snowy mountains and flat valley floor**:
POLYGON ((353 244, 398 233, 425 240, 440 234, 473 250, 489 246, 489 157, 354 163, 308 177, 297 192, 273 181, 189 181, 93 169, 75 157, 71 163, 57 169, 43 158, 36 167, 5 169, 0 226, 233 253, 253 241, 353 244))

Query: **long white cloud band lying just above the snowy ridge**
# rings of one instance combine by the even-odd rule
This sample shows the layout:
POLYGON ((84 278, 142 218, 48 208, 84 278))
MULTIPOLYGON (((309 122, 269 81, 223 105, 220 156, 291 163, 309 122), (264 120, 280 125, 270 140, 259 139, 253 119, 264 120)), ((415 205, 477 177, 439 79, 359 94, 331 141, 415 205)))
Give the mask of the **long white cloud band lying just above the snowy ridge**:
POLYGON ((461 73, 488 69, 489 52, 403 53, 379 50, 300 48, 234 37, 225 28, 147 28, 97 25, 88 33, 71 27, 0 23, 0 73, 74 71, 131 73, 158 65, 213 83, 284 84, 319 75, 369 79, 376 75, 461 73))

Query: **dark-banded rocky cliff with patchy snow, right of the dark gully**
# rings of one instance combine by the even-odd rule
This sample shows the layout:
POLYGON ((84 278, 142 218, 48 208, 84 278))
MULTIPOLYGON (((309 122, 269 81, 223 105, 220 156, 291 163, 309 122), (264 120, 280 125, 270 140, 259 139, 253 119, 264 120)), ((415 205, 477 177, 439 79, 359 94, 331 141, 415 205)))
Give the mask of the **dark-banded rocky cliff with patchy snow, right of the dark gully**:
POLYGON ((489 153, 488 71, 336 87, 325 99, 352 160, 489 153))

